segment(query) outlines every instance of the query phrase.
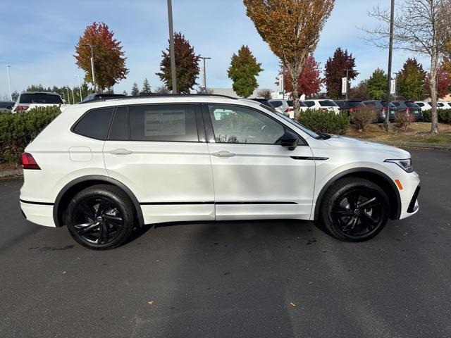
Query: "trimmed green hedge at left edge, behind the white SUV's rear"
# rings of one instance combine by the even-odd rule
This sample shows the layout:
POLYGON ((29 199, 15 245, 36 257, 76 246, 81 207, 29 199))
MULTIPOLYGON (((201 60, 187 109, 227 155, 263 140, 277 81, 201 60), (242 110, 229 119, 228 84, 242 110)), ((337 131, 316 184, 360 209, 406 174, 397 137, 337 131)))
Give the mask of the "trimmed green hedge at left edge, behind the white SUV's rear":
POLYGON ((57 106, 0 113, 0 163, 20 161, 25 146, 61 113, 57 106))

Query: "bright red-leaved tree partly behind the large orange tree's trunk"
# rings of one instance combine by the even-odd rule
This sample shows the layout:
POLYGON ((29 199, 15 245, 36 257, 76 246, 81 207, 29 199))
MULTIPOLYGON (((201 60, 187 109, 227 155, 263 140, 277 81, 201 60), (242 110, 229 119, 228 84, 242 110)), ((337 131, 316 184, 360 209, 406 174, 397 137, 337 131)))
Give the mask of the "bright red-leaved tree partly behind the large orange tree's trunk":
MULTIPOLYGON (((297 94, 301 96, 311 96, 318 94, 321 89, 321 84, 324 80, 320 77, 321 70, 319 70, 319 62, 316 62, 313 54, 307 56, 304 68, 302 68, 299 77, 297 78, 297 94)), ((285 70, 285 92, 292 92, 292 80, 288 70, 285 70)))

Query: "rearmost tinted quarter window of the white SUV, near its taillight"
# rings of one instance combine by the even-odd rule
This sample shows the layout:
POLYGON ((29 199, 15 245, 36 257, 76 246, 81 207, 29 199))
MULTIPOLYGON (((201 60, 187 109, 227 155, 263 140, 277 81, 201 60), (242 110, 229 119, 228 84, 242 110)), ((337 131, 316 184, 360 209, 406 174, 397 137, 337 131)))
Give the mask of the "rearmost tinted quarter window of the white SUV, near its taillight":
POLYGON ((106 139, 114 107, 94 109, 82 116, 73 132, 92 139, 106 139))

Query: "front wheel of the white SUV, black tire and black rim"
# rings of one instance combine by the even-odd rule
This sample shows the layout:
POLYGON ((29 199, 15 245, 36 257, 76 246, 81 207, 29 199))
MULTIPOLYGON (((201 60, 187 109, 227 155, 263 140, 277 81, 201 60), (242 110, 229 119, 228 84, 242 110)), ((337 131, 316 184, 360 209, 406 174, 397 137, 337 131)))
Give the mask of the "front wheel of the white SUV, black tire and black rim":
POLYGON ((388 197, 378 185, 346 177, 334 182, 324 194, 320 222, 337 239, 363 242, 385 227, 389 209, 388 197))

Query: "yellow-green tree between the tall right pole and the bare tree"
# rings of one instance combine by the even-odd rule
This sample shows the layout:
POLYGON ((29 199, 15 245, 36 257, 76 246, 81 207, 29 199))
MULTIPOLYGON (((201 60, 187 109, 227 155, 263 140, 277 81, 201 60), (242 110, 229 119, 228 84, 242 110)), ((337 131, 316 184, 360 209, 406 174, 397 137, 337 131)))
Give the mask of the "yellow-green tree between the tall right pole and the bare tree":
POLYGON ((397 75, 397 93, 406 100, 419 101, 424 96, 426 71, 416 58, 407 58, 397 75))

